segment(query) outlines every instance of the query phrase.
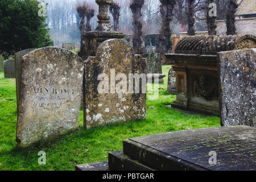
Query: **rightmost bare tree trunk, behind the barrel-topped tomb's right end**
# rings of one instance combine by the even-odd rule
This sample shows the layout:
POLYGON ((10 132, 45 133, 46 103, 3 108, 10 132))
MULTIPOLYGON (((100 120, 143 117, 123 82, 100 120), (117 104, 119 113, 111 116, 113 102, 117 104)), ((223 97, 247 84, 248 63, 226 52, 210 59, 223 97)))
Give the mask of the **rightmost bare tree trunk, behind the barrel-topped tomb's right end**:
POLYGON ((237 0, 229 0, 228 13, 226 14, 226 35, 236 35, 235 14, 237 0))

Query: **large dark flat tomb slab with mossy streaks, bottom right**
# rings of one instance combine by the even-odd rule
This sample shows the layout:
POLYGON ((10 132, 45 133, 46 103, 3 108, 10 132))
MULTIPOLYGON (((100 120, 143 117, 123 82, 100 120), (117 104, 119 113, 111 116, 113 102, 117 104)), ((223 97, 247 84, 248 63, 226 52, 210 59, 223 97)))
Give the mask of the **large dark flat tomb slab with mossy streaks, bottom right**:
POLYGON ((256 170, 255 134, 247 126, 176 131, 124 140, 123 152, 158 170, 256 170))

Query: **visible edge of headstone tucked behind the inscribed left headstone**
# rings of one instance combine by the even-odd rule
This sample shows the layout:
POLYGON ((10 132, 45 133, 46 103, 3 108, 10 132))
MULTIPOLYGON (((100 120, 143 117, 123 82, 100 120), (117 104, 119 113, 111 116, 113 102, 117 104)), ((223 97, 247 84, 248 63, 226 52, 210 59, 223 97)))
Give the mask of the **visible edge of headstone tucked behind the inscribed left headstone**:
POLYGON ((34 51, 35 49, 25 49, 15 53, 15 77, 16 77, 16 98, 17 107, 19 104, 19 86, 20 86, 20 73, 21 73, 21 60, 22 56, 26 55, 28 52, 34 51))

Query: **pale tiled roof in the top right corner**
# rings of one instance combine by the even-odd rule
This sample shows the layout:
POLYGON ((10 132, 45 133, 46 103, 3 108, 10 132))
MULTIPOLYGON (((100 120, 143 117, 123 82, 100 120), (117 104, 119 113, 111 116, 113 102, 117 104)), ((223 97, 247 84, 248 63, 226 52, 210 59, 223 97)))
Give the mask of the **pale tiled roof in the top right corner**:
POLYGON ((238 0, 236 15, 256 14, 256 0, 238 0))

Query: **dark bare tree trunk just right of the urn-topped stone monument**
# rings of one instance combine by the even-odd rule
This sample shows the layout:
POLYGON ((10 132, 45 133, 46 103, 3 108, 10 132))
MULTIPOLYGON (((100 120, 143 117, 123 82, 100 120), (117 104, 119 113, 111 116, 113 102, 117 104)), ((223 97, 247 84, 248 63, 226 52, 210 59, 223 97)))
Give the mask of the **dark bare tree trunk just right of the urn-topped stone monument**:
POLYGON ((133 13, 133 49, 135 53, 142 54, 142 6, 144 0, 132 0, 130 9, 133 13))

